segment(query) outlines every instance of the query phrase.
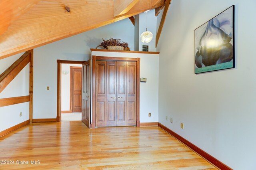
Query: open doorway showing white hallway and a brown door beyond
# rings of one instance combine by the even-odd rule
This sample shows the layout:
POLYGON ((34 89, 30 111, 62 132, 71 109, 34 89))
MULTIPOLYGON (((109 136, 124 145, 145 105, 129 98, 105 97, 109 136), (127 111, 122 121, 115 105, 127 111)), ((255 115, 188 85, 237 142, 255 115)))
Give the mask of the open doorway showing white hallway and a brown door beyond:
POLYGON ((82 121, 82 64, 61 64, 61 121, 82 121))

